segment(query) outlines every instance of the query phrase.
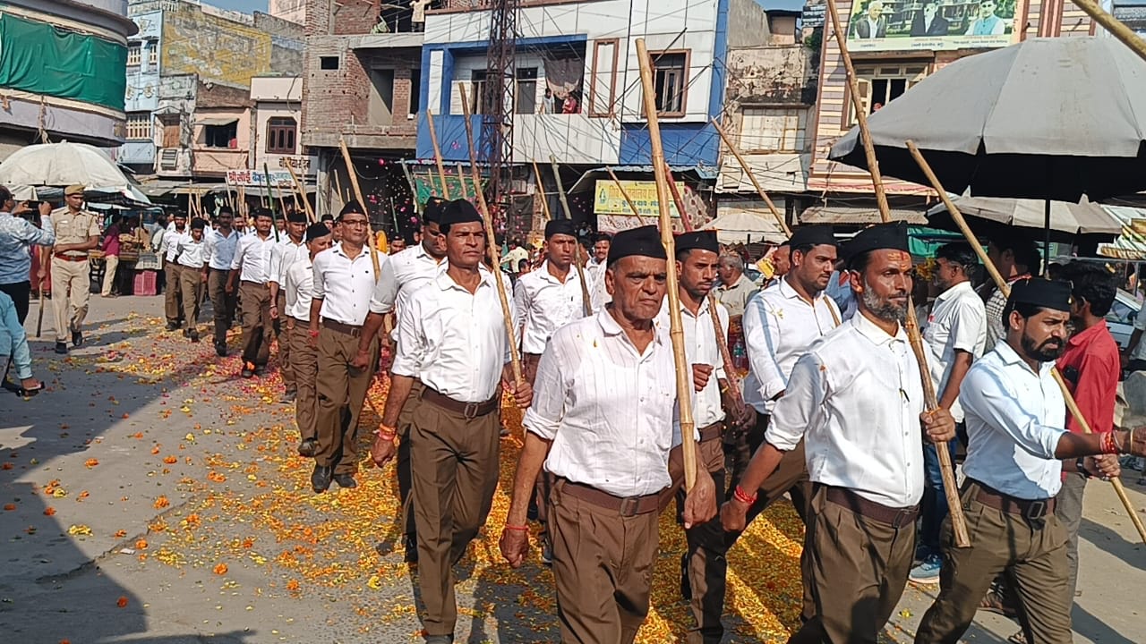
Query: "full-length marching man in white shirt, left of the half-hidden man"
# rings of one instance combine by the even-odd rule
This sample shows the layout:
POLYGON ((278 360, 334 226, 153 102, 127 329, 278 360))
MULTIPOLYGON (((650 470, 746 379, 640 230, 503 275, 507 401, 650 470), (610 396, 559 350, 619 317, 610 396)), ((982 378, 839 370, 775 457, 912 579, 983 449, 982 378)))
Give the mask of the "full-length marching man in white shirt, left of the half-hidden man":
MULTIPOLYGON (((370 293, 377 278, 367 245, 371 235, 366 209, 347 202, 338 214, 343 239, 314 258, 314 286, 309 330, 319 354, 317 450, 311 487, 316 494, 330 488, 358 487, 358 419, 377 366, 377 333, 368 337, 370 359, 358 363, 362 323, 370 311, 370 293)), ((379 273, 388 258, 376 252, 379 273)))

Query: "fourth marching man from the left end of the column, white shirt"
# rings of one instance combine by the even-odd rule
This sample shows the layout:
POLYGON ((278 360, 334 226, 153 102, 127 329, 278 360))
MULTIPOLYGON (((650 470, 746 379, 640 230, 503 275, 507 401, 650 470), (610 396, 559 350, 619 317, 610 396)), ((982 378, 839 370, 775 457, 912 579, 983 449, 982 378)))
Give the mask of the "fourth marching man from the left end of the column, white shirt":
POLYGON ((238 238, 235 259, 230 262, 227 292, 235 292, 243 300, 243 369, 244 378, 262 375, 270 358, 270 250, 275 238, 270 234, 274 214, 269 209, 254 209, 254 234, 238 238))

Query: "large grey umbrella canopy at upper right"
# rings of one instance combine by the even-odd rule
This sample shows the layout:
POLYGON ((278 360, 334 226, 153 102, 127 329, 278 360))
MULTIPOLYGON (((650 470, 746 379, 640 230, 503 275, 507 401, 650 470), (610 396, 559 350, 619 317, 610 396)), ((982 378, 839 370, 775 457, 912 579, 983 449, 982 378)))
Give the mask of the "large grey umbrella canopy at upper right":
MULTIPOLYGON (((1031 38, 960 58, 868 119, 884 174, 975 196, 1077 202, 1146 189, 1146 62, 1113 38, 1031 38)), ((868 167, 858 128, 829 158, 868 167)))

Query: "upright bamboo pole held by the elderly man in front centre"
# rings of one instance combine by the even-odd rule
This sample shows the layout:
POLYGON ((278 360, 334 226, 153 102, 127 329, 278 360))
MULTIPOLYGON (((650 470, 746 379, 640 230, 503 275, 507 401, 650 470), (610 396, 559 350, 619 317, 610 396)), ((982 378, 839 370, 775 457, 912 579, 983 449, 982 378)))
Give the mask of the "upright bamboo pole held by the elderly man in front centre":
POLYGON ((660 141, 660 124, 657 121, 657 104, 653 96, 652 65, 644 38, 637 38, 637 61, 641 63, 641 85, 644 88, 645 117, 649 121, 649 140, 652 143, 652 170, 657 180, 657 209, 660 211, 660 243, 668 256, 668 336, 673 340, 673 358, 676 364, 676 402, 681 413, 681 455, 684 457, 684 489, 691 490, 697 482, 697 442, 692 418, 692 369, 684 353, 684 327, 681 322, 681 292, 676 276, 676 242, 673 239, 673 221, 668 212, 668 186, 665 179, 665 149, 660 141))

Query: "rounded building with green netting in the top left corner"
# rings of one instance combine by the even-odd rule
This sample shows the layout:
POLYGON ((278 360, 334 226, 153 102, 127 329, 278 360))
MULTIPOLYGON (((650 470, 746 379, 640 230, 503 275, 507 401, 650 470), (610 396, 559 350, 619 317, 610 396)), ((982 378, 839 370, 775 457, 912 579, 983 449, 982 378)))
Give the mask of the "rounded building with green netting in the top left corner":
POLYGON ((126 16, 126 0, 0 1, 0 160, 30 143, 124 141, 126 16))

